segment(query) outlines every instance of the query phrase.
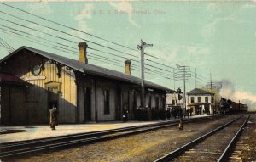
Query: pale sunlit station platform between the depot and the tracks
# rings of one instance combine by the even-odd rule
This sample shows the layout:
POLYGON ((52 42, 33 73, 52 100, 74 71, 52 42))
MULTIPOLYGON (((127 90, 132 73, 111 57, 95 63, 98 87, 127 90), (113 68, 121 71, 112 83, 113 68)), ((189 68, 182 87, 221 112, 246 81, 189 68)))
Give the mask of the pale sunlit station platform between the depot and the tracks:
MULTIPOLYGON (((202 118, 213 115, 194 115, 189 118, 202 118)), ((187 119, 187 118, 186 118, 187 119)), ((176 121, 172 120, 156 120, 156 121, 113 121, 89 124, 61 124, 56 126, 56 130, 51 130, 49 125, 29 125, 29 126, 0 126, 0 144, 7 142, 20 142, 26 140, 37 140, 48 137, 59 137, 78 133, 106 131, 129 126, 143 126, 160 122, 176 121)))

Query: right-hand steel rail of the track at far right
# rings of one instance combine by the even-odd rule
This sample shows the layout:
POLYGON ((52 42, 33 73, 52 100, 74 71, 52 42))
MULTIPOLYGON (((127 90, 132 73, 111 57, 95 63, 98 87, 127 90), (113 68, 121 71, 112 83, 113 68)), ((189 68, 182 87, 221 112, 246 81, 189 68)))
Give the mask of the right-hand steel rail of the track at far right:
POLYGON ((236 140, 238 139, 238 137, 241 136, 241 132, 243 131, 244 126, 246 126, 247 121, 249 120, 249 118, 250 118, 250 115, 247 116, 247 120, 244 121, 244 123, 242 124, 240 129, 236 132, 236 135, 230 141, 230 143, 227 146, 227 148, 225 148, 223 154, 219 157, 218 162, 225 162, 225 161, 227 161, 226 159, 228 158, 228 155, 230 154, 232 146, 234 146, 234 144, 236 143, 236 140))

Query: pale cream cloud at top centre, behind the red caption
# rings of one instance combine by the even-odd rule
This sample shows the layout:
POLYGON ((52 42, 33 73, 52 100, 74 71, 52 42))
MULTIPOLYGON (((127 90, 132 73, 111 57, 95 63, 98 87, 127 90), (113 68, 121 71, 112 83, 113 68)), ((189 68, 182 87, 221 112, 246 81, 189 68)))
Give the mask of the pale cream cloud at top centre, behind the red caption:
POLYGON ((118 11, 123 11, 128 14, 128 20, 131 23, 131 25, 134 25, 137 28, 140 28, 141 26, 137 24, 135 20, 132 19, 132 6, 131 3, 127 0, 121 1, 121 2, 113 2, 112 0, 109 1, 109 4, 116 8, 118 11))

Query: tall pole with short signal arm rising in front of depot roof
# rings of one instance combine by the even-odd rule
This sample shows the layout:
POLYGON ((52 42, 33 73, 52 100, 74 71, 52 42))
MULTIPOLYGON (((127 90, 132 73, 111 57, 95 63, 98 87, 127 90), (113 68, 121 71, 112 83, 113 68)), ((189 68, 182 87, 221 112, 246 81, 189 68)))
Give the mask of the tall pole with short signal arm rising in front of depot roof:
POLYGON ((141 45, 137 45, 137 49, 141 51, 141 70, 142 70, 142 95, 141 107, 145 108, 145 87, 144 87, 144 49, 145 47, 153 47, 153 44, 147 44, 141 40, 141 45))

